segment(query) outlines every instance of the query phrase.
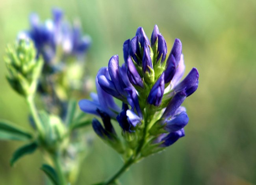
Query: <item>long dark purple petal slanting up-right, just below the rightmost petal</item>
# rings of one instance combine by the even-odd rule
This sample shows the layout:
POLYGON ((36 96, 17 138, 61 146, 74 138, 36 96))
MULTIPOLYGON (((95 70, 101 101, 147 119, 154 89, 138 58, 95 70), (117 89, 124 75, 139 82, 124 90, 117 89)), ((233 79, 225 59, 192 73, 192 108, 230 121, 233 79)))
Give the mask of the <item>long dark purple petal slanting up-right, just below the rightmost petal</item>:
POLYGON ((185 93, 185 91, 180 91, 176 93, 171 99, 171 101, 168 103, 165 111, 163 112, 163 115, 162 115, 163 120, 167 120, 168 118, 173 116, 175 111, 184 102, 186 97, 187 97, 187 94, 185 93))

